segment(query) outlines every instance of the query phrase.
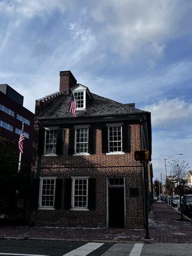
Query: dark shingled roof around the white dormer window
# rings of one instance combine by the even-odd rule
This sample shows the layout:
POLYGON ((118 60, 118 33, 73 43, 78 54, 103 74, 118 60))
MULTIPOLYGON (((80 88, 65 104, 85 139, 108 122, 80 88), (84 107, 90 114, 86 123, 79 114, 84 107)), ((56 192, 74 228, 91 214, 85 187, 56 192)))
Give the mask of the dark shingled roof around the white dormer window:
MULTIPOLYGON (((108 116, 108 115, 120 115, 129 113, 141 113, 146 112, 141 109, 134 108, 134 104, 122 104, 114 100, 110 100, 101 97, 97 94, 91 93, 93 96, 92 102, 82 111, 77 111, 77 116, 108 116)), ((50 95, 49 95, 50 97, 50 95)), ((40 100, 44 100, 43 99, 40 100)), ((45 109, 38 113, 36 118, 49 119, 49 118, 72 118, 74 117, 69 113, 71 95, 60 95, 56 99, 52 100, 45 109)), ((74 117, 75 118, 75 117, 74 117)))

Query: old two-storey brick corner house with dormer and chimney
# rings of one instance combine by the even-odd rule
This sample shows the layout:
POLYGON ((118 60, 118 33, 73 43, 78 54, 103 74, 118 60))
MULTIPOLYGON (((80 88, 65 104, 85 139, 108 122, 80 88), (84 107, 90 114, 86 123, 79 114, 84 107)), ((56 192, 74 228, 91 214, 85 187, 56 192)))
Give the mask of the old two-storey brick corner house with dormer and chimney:
POLYGON ((150 113, 91 93, 61 71, 60 92, 36 100, 35 115, 35 225, 143 228, 143 167, 134 151, 151 152, 150 113), (68 111, 72 92, 77 117, 68 111))

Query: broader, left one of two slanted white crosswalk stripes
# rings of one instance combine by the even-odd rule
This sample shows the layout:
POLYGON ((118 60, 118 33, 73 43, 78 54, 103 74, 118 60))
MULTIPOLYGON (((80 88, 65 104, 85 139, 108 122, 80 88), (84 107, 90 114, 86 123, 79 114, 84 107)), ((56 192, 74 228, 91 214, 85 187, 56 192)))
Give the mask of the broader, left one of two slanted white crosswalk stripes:
POLYGON ((76 250, 72 250, 71 252, 68 252, 64 255, 65 256, 86 256, 89 253, 95 251, 97 248, 99 248, 103 244, 104 243, 87 243, 87 244, 84 244, 83 246, 77 248, 76 250))

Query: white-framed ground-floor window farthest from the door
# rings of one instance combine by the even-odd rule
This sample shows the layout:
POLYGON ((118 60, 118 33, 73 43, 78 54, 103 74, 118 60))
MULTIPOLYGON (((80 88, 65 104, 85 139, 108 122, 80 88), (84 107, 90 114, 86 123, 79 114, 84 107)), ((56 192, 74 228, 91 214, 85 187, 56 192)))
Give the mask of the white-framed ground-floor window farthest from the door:
POLYGON ((40 209, 54 209, 55 186, 55 177, 40 178, 40 209))

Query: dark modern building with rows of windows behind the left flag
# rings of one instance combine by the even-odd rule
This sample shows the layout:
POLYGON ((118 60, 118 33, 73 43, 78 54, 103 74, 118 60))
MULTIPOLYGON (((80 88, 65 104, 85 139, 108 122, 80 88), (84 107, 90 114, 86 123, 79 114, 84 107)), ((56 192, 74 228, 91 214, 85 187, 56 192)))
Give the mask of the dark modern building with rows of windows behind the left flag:
MULTIPOLYGON (((0 136, 19 141, 24 122, 24 154, 22 164, 30 164, 32 157, 34 114, 23 106, 24 97, 8 84, 0 84, 0 136)), ((18 159, 19 161, 19 159, 18 159)))

